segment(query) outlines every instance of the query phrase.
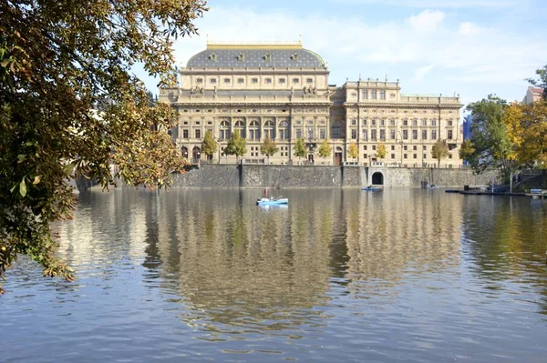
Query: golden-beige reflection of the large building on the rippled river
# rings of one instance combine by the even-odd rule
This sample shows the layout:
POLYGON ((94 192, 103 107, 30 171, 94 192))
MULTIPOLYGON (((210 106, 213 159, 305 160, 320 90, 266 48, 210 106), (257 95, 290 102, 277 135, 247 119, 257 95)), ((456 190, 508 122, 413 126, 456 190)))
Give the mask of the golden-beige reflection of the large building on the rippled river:
POLYGON ((261 192, 87 193, 77 218, 57 227, 59 252, 80 273, 115 277, 108 267, 120 259, 145 267, 146 286, 179 296, 191 326, 290 335, 327 324, 337 297, 388 303, 408 279, 449 280, 463 259, 481 275, 499 248, 521 246, 484 242, 484 231, 528 236, 521 207, 507 219, 509 205, 473 205, 479 198, 438 190, 284 190, 285 208, 255 206, 261 192))

